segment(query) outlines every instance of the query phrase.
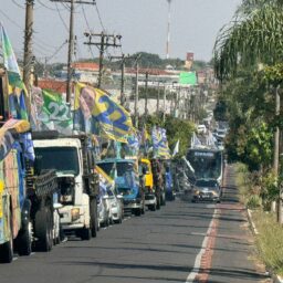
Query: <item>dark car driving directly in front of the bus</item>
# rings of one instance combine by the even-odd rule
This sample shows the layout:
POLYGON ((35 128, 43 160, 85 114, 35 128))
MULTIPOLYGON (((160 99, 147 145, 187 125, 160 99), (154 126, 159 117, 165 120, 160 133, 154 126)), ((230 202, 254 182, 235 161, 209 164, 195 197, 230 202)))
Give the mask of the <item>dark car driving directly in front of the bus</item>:
POLYGON ((222 189, 214 179, 198 179, 192 189, 192 202, 197 201, 217 201, 220 202, 222 189))

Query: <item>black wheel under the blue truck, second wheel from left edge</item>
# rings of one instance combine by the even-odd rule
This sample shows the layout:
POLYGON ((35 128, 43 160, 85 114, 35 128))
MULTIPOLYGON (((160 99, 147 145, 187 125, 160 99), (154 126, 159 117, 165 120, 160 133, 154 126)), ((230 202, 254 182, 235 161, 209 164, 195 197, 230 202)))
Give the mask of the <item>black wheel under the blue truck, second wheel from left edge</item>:
POLYGON ((17 238, 17 250, 19 255, 30 255, 32 252, 32 223, 29 222, 17 238))

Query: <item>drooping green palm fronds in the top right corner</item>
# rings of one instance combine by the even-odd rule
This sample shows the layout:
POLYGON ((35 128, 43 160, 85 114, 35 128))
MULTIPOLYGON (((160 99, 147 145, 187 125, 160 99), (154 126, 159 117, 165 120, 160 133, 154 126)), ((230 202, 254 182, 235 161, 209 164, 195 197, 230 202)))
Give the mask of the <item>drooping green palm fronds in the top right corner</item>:
POLYGON ((217 76, 232 76, 239 65, 277 62, 283 62, 283 0, 243 0, 217 38, 217 76))

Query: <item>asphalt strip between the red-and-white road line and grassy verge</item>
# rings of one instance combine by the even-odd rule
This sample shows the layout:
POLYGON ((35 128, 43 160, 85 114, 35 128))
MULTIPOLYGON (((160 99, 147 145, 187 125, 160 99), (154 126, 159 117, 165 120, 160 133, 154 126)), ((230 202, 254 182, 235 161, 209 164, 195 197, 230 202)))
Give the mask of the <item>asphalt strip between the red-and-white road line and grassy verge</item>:
POLYGON ((272 282, 264 266, 256 263, 253 235, 247 211, 238 201, 233 168, 227 168, 227 188, 218 205, 218 228, 210 266, 209 283, 272 282))

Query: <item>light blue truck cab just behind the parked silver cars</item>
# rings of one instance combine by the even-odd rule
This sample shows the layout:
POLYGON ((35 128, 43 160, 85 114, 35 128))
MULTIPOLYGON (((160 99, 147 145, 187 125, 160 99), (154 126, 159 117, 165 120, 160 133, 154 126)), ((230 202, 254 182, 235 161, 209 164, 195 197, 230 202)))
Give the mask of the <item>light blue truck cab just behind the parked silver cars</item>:
POLYGON ((116 190, 123 196, 124 211, 135 216, 145 213, 145 193, 139 182, 137 163, 111 158, 97 161, 97 166, 115 179, 116 190))

